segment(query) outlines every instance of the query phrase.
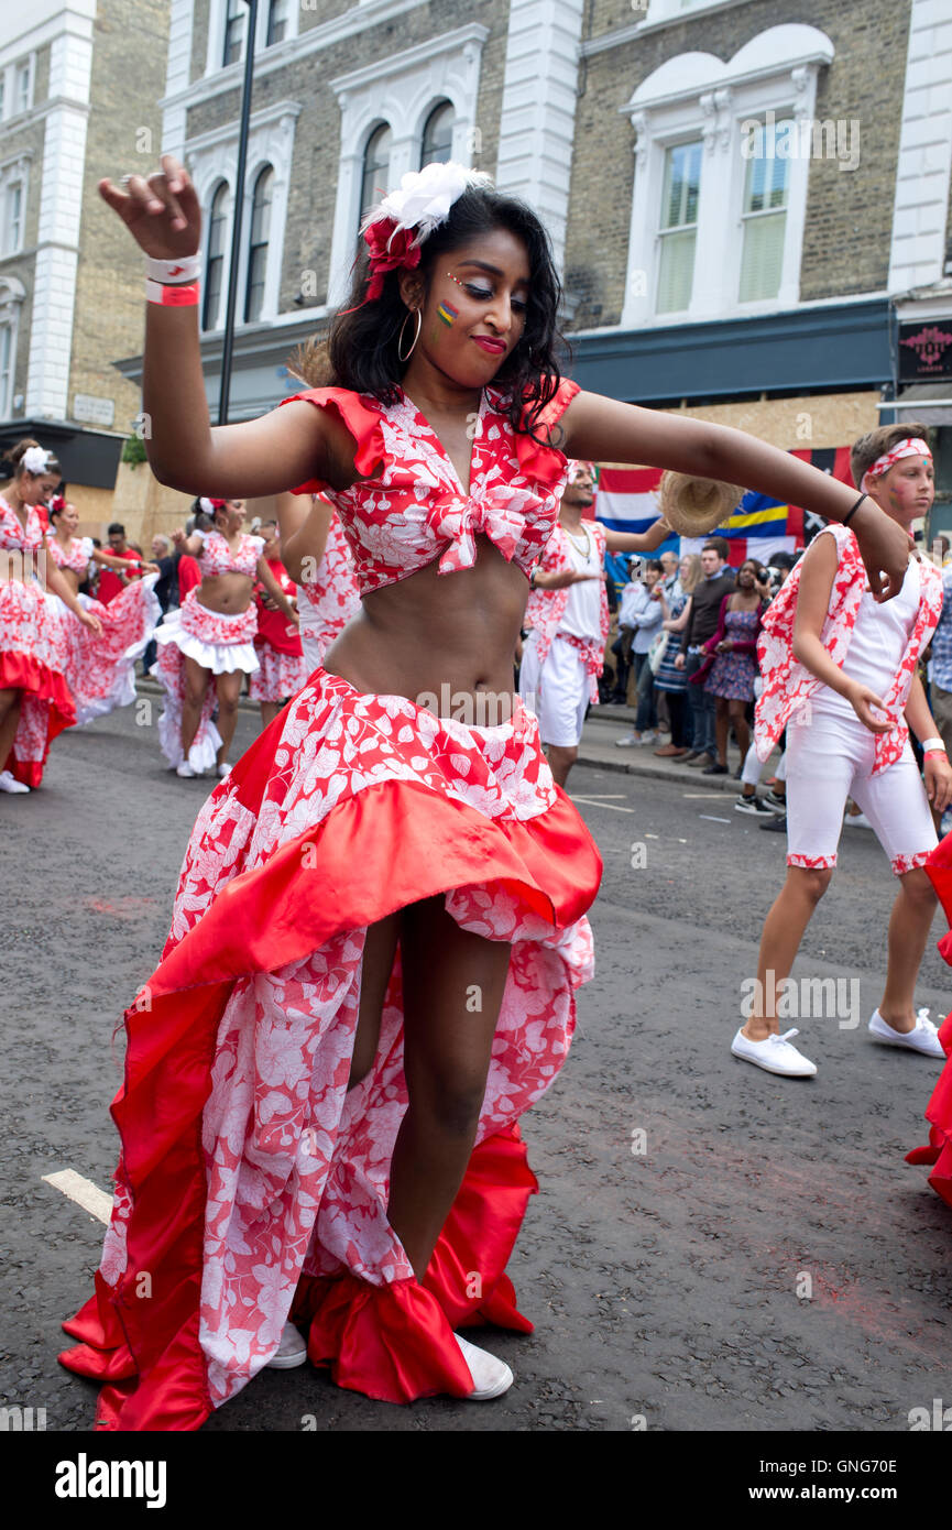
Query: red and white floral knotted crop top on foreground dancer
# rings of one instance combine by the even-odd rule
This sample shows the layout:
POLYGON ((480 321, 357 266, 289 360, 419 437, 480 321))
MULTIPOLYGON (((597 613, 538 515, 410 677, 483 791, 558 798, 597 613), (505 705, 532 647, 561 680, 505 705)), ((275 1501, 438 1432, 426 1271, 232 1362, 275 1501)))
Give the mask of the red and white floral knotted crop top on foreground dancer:
MULTIPOLYGON (((579 384, 565 378, 542 412, 537 435, 556 424, 575 393, 579 384)), ((513 430, 502 412, 504 389, 482 392, 468 494, 436 433, 403 390, 396 404, 340 387, 309 389, 282 402, 295 399, 337 410, 357 444, 354 465, 363 479, 346 490, 311 479, 294 493, 324 494, 337 506, 361 595, 436 560, 439 574, 473 568, 479 532, 528 578, 559 519, 568 459, 513 430)))

